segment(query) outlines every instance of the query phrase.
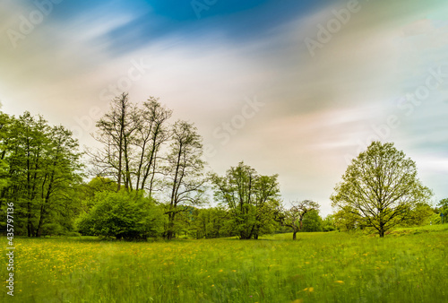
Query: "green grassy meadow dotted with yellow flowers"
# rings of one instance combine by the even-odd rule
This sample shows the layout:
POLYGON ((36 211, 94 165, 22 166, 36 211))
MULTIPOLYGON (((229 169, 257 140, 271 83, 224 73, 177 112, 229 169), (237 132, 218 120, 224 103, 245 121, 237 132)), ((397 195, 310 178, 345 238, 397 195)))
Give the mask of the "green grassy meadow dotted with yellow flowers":
POLYGON ((294 242, 15 242, 14 297, 4 287, 2 302, 448 302, 448 224, 294 242))

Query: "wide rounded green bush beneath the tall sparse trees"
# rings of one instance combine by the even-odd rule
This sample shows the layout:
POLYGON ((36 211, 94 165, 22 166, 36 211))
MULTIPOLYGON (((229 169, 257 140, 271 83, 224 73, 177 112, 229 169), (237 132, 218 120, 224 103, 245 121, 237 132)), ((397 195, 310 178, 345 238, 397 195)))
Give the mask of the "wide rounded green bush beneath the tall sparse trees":
POLYGON ((143 193, 99 192, 90 212, 77 222, 83 235, 129 239, 159 237, 163 216, 150 198, 143 193))

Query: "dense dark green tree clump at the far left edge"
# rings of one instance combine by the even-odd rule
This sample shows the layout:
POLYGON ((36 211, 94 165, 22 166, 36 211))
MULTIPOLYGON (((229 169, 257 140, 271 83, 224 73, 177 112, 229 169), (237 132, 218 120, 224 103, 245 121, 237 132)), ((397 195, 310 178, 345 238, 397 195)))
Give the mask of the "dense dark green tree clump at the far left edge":
POLYGON ((72 229, 77 207, 73 192, 82 177, 81 153, 72 133, 29 112, 10 117, 6 129, 2 160, 7 183, 0 201, 14 204, 17 235, 40 237, 72 229))

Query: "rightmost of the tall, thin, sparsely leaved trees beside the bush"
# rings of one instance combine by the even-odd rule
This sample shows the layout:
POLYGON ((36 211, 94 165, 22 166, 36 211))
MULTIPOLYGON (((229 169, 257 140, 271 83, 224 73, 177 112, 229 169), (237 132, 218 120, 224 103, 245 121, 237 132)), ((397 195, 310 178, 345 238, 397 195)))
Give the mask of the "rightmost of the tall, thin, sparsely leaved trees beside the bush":
POLYGON ((163 168, 169 194, 168 230, 166 237, 174 238, 175 218, 185 212, 187 205, 202 203, 204 161, 202 160, 202 137, 197 128, 188 122, 177 121, 173 126, 167 164, 163 168))

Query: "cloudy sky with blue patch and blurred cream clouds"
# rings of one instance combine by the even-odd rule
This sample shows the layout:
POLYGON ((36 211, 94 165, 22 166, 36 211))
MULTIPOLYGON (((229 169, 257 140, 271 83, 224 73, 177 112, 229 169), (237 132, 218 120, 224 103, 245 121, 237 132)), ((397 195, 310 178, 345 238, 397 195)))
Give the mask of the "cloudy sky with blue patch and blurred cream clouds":
POLYGON ((448 197, 444 0, 0 0, 0 102, 81 145, 116 95, 193 122, 209 169, 279 174, 285 205, 330 195, 373 140, 448 197))

